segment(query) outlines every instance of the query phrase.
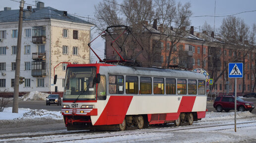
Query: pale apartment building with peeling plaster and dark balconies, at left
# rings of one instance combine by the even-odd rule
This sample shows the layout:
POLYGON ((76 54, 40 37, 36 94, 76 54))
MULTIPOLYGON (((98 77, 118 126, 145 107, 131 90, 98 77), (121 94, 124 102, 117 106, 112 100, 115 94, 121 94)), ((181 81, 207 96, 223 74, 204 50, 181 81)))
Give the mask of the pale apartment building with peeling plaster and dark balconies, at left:
MULTIPOLYGON (((19 91, 63 93, 66 63, 88 64, 93 24, 59 11, 28 6, 23 12, 19 91), (66 62, 66 63, 62 63, 66 62), (60 64, 61 63, 61 64, 60 64), (60 64, 59 66, 57 66, 60 64), (57 66, 57 67, 56 67, 57 66), (56 68, 55 68, 56 67, 56 68), (56 85, 54 73, 58 74, 56 85)), ((0 92, 13 94, 19 10, 0 11, 0 92), (8 16, 12 15, 12 16, 8 16)))

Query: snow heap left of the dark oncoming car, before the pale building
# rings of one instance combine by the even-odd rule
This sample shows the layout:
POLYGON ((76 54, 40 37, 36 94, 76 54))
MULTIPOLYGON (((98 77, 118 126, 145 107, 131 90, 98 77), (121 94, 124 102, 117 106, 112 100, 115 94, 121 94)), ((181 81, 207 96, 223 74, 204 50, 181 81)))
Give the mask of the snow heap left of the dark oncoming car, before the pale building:
POLYGON ((23 95, 20 100, 21 101, 35 101, 35 100, 45 100, 48 96, 48 93, 42 93, 38 91, 31 91, 30 93, 27 93, 23 95))

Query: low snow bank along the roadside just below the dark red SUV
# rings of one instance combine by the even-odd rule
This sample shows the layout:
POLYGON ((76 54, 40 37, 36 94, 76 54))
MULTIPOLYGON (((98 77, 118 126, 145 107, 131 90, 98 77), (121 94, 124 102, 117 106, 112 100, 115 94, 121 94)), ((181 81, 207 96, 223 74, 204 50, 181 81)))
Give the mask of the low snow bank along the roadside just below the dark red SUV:
MULTIPOLYGON (((205 118, 202 118, 203 121, 211 121, 211 120, 222 120, 222 119, 232 119, 235 116, 235 112, 206 112, 205 118)), ((245 112, 237 112, 237 118, 243 117, 252 117, 255 114, 251 113, 250 111, 245 112)))

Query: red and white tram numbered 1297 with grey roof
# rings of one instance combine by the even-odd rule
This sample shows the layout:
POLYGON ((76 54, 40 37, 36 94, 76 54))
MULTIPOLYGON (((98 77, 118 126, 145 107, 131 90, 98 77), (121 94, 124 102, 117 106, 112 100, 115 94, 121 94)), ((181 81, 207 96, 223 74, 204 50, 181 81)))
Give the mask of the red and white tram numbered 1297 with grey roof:
POLYGON ((200 120, 206 113, 205 76, 196 72, 116 66, 67 65, 63 108, 67 130, 200 120))

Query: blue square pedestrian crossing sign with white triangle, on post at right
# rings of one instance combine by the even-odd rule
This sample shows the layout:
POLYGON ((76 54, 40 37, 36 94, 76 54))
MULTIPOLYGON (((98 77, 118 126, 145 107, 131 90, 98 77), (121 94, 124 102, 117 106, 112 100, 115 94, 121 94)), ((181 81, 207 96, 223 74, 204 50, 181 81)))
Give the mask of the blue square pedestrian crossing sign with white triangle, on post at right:
POLYGON ((228 77, 229 78, 243 78, 243 63, 229 63, 228 64, 228 77))

